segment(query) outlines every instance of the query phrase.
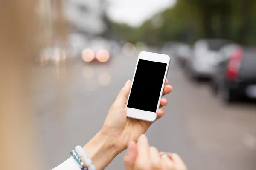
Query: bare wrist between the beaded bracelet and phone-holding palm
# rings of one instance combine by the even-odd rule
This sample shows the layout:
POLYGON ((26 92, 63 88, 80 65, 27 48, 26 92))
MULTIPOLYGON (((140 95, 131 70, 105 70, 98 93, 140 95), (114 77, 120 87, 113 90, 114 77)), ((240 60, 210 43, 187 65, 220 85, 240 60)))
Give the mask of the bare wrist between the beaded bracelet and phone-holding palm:
POLYGON ((118 155, 110 137, 101 131, 83 148, 97 170, 103 170, 118 155))

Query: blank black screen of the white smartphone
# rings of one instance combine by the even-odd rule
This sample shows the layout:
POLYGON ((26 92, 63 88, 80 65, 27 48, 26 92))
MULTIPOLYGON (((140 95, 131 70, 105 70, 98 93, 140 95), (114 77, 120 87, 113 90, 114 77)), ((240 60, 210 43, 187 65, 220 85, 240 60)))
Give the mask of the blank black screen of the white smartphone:
POLYGON ((166 63, 139 59, 128 108, 156 112, 161 92, 166 63))

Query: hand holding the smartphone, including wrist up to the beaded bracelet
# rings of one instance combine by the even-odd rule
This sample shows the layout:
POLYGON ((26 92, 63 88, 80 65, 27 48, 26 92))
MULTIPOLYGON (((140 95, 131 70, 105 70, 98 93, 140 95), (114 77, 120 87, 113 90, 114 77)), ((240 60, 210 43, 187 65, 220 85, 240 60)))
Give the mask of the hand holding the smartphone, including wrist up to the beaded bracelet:
MULTIPOLYGON (((167 84, 168 80, 166 80, 163 95, 172 91, 172 86, 167 84)), ((109 109, 102 129, 84 145, 85 152, 97 170, 103 170, 115 156, 126 149, 130 141, 137 141, 152 124, 152 122, 127 117, 126 102, 130 88, 131 81, 128 80, 109 109)), ((164 114, 161 107, 167 105, 167 100, 162 98, 160 104, 160 109, 157 111, 158 119, 164 114)))

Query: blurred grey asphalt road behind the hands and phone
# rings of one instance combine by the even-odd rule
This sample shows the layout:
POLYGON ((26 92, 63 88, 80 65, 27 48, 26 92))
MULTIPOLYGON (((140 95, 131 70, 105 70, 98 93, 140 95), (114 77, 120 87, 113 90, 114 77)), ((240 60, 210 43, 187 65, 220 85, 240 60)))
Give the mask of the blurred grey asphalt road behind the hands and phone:
MULTIPOLYGON (((100 130, 119 90, 132 79, 136 60, 119 55, 108 64, 32 68, 35 139, 45 168, 66 160, 100 130)), ((256 170, 256 105, 222 105, 173 61, 168 74, 173 92, 166 96, 166 115, 146 133, 150 144, 179 153, 189 170, 256 170)), ((124 153, 106 170, 124 170, 124 153)))

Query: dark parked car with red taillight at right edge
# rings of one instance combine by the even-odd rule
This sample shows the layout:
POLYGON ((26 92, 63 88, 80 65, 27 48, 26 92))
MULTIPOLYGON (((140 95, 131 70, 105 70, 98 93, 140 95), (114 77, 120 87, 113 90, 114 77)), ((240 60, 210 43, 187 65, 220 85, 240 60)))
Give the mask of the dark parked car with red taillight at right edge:
POLYGON ((256 48, 230 45, 220 51, 222 61, 212 87, 224 102, 256 99, 256 48))

